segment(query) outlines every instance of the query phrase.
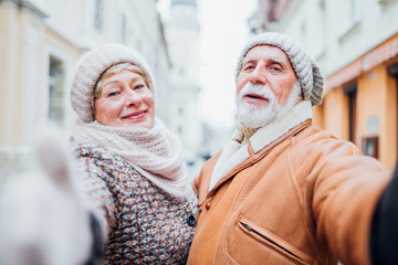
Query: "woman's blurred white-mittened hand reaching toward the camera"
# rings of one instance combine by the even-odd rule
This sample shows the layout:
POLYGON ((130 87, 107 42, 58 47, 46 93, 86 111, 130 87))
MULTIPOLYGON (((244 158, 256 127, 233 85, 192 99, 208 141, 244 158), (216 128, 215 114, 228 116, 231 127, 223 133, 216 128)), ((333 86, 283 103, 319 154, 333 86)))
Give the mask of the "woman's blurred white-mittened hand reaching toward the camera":
POLYGON ((88 262, 91 218, 81 199, 69 142, 57 135, 42 132, 33 155, 35 166, 10 176, 1 189, 0 264, 88 262))

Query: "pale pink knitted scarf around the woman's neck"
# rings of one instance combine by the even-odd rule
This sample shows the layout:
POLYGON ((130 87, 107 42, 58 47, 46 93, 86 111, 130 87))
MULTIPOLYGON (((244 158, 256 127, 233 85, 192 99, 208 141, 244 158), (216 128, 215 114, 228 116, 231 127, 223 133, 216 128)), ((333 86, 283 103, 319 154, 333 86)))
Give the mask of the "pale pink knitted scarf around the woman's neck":
POLYGON ((78 119, 72 131, 72 142, 104 147, 126 159, 169 194, 187 194, 189 183, 182 144, 158 118, 150 129, 105 126, 78 119))

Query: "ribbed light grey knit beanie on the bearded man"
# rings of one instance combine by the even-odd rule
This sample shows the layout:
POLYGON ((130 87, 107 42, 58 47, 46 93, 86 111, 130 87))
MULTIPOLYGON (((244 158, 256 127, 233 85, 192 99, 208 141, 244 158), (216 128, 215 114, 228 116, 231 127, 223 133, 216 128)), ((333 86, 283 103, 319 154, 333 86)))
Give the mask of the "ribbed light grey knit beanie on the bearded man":
POLYGON ((324 77, 321 74, 320 67, 292 38, 277 32, 261 33, 249 40, 239 55, 235 70, 235 82, 238 83, 238 76, 242 70, 243 59, 249 50, 265 44, 277 46, 284 51, 293 65, 304 99, 311 100, 313 106, 320 105, 322 103, 324 88, 324 77))

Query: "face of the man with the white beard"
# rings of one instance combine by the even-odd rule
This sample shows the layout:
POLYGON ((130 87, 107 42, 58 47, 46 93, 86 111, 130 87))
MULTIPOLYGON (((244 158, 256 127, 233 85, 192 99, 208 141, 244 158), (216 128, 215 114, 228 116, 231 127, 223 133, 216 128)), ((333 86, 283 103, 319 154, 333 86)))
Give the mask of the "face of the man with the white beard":
POLYGON ((264 126, 284 115, 300 99, 300 84, 281 49, 259 45, 248 52, 237 84, 241 124, 252 128, 264 126))

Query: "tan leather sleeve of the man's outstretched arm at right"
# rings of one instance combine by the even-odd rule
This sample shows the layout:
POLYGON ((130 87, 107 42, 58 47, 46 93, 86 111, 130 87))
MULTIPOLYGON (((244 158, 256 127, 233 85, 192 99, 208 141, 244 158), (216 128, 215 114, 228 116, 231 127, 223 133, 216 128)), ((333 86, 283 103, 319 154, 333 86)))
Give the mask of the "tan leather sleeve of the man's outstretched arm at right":
POLYGON ((353 144, 328 140, 310 178, 318 241, 343 264, 370 264, 371 220, 390 180, 388 170, 353 144))

